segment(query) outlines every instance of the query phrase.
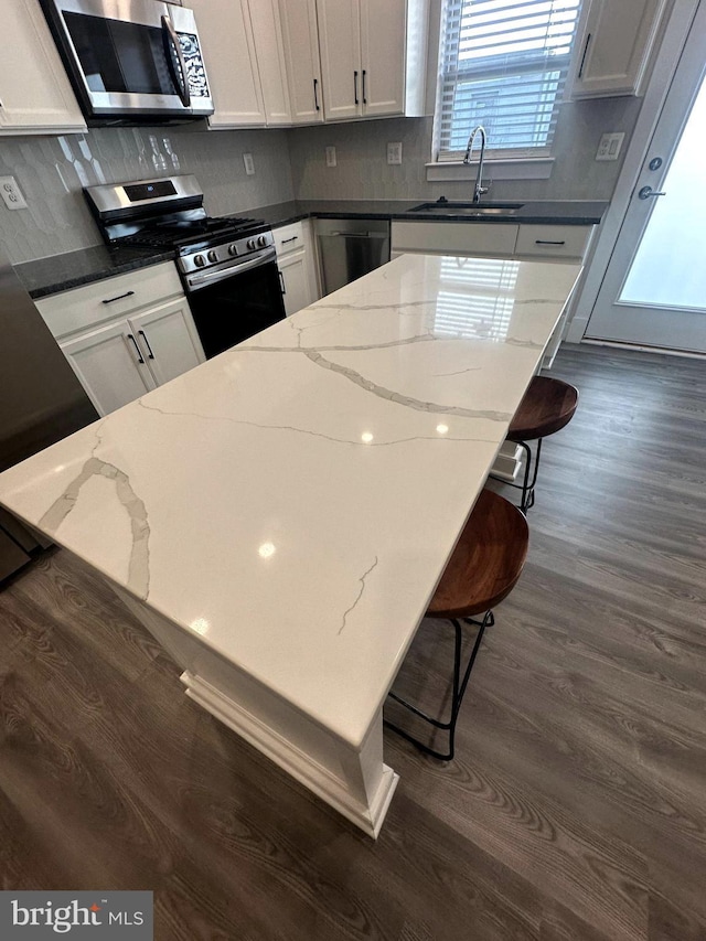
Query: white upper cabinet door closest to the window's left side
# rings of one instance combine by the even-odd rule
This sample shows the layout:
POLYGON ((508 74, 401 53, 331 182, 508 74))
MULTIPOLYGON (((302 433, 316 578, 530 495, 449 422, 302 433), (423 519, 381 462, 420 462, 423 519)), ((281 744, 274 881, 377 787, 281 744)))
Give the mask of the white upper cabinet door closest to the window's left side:
POLYGON ((407 0, 360 0, 363 115, 405 113, 407 0))

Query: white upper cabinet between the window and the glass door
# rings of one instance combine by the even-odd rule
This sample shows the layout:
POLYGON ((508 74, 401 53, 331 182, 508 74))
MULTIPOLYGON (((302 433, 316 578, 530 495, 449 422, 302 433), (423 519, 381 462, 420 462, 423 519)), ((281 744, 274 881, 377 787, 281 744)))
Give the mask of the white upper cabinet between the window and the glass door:
POLYGON ((639 95, 666 0, 590 0, 584 6, 569 98, 639 95))

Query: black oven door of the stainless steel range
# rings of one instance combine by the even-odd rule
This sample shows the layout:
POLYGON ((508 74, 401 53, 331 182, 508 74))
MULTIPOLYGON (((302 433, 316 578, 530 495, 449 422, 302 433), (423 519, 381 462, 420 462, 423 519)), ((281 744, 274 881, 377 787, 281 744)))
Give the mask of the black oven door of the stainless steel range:
POLYGON ((189 288, 189 307, 207 359, 285 319, 285 303, 275 260, 227 277, 208 274, 189 288))

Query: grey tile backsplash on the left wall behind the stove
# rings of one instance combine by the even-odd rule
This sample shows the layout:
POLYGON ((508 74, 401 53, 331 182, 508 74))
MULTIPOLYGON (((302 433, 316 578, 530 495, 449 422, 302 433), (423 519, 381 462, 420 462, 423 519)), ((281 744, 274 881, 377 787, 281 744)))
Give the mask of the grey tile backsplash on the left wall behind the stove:
POLYGON ((82 188, 194 173, 211 215, 293 197, 285 131, 208 131, 203 125, 97 128, 85 135, 0 139, 0 177, 14 177, 28 208, 0 203, 0 247, 13 264, 100 243, 82 188), (252 153, 247 177, 243 153, 252 153))

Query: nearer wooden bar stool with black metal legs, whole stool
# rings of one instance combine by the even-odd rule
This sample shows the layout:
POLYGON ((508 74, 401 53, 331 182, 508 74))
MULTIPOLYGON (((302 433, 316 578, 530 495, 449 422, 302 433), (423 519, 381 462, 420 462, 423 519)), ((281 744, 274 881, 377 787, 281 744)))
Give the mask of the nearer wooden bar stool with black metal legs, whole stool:
POLYGON ((498 493, 491 490, 481 491, 425 616, 448 619, 456 630, 450 718, 448 721, 441 721, 395 693, 389 693, 392 699, 429 725, 447 730, 448 750, 437 751, 397 725, 387 720, 385 725, 442 761, 453 758, 456 723, 483 632, 494 623, 492 608, 502 601, 517 582, 527 556, 528 541, 530 531, 524 514, 498 493), (481 620, 474 620, 475 614, 483 617, 481 620), (462 675, 461 620, 478 625, 475 641, 462 675))

